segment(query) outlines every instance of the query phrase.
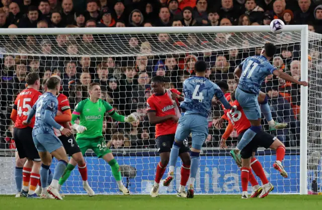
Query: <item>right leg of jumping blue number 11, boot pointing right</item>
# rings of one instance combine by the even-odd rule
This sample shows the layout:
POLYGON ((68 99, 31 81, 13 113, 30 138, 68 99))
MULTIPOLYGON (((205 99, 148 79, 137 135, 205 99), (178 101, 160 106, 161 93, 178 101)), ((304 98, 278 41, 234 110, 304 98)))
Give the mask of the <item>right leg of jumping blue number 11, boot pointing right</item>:
POLYGON ((262 91, 260 91, 258 95, 258 102, 261 107, 261 112, 264 114, 264 117, 270 126, 270 131, 285 128, 287 126, 287 123, 279 123, 273 120, 271 108, 267 102, 267 95, 262 91))

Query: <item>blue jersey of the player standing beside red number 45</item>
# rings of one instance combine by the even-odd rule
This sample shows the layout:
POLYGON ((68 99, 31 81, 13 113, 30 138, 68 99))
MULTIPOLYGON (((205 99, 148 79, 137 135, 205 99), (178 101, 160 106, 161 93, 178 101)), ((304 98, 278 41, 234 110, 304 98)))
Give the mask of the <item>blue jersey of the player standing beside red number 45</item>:
POLYGON ((49 133, 54 129, 44 121, 45 111, 50 110, 52 118, 55 118, 58 109, 58 100, 52 93, 46 92, 39 97, 37 102, 32 107, 35 111, 35 126, 33 134, 49 133))

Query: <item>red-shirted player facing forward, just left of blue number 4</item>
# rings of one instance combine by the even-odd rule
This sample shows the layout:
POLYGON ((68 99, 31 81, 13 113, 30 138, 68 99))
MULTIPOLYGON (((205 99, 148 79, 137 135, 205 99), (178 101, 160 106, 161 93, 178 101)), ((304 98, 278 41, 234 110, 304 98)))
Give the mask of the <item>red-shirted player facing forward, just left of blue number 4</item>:
MULTIPOLYGON (((159 189, 159 182, 164 175, 170 159, 171 147, 175 141, 175 133, 178 126, 178 120, 181 116, 179 101, 183 101, 180 92, 176 89, 165 89, 165 80, 163 77, 155 76, 151 80, 153 95, 147 99, 147 116, 150 123, 155 125, 155 138, 157 151, 160 155, 160 162, 156 166, 154 184, 151 190, 151 196, 156 197, 159 189)), ((183 146, 179 149, 179 156, 182 160, 181 182, 177 195, 187 197, 186 185, 190 175, 190 156, 189 145, 185 140, 183 146)), ((164 186, 169 186, 174 178, 175 167, 170 166, 169 176, 164 181, 164 186)))

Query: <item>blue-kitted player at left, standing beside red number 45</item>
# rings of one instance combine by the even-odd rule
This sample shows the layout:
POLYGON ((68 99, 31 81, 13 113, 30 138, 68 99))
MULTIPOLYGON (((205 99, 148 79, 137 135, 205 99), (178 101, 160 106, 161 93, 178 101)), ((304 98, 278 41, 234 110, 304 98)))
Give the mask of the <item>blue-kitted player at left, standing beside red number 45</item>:
MULTIPOLYGON (((56 98, 57 90, 60 89, 60 81, 56 77, 48 79, 48 91, 41 95, 35 105, 32 107, 27 120, 23 124, 29 124, 32 117, 36 114, 35 126, 32 131, 33 140, 42 161, 40 169, 40 179, 42 185, 48 182, 48 170, 51 164, 51 155, 57 160, 55 172, 51 184, 42 186, 42 194, 51 194, 56 199, 62 199, 58 193, 58 180, 66 169, 68 158, 65 149, 59 138, 54 134, 53 127, 61 131, 62 134, 69 136, 72 134, 70 129, 59 125, 54 117, 57 113, 58 101, 56 98), (51 155, 50 155, 51 154, 51 155)), ((50 198, 45 196, 43 198, 50 198)))

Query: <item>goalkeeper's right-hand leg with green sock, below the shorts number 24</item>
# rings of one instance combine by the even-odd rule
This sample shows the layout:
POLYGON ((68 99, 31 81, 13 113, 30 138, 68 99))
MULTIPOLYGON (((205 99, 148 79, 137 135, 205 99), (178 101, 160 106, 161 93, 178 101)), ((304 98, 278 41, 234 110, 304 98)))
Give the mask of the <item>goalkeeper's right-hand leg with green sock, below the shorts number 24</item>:
POLYGON ((129 195, 130 191, 122 183, 120 167, 119 167, 119 164, 117 163, 117 161, 114 159, 113 154, 108 153, 108 154, 104 155, 102 158, 111 166, 112 174, 117 182, 119 190, 124 195, 129 195))

